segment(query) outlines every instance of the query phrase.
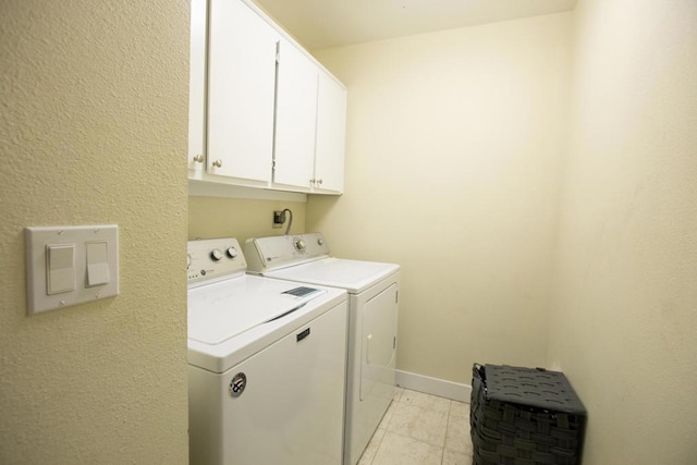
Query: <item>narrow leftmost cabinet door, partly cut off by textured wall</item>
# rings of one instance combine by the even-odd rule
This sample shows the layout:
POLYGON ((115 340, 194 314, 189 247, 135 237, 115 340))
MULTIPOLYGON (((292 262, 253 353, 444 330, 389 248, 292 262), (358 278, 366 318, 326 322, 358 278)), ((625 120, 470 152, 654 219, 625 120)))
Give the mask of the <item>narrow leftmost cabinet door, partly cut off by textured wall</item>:
POLYGON ((203 171, 206 157, 206 0, 192 0, 188 76, 188 169, 203 171))

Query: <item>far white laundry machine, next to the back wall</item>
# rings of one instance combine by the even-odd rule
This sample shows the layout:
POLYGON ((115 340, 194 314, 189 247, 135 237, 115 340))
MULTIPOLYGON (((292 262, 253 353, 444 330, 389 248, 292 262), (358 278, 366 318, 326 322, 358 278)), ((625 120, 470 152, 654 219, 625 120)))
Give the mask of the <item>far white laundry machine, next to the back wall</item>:
POLYGON ((400 266, 331 257, 320 233, 247 240, 249 272, 348 292, 344 464, 355 465, 394 393, 400 266))

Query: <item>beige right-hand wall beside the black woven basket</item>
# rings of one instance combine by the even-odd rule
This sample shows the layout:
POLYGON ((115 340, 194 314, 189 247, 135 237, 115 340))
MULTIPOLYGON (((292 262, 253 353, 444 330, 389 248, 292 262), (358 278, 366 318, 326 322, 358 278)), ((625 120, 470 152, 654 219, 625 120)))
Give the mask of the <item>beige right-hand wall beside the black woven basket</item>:
POLYGON ((697 463, 697 2, 583 0, 550 365, 587 464, 697 463))

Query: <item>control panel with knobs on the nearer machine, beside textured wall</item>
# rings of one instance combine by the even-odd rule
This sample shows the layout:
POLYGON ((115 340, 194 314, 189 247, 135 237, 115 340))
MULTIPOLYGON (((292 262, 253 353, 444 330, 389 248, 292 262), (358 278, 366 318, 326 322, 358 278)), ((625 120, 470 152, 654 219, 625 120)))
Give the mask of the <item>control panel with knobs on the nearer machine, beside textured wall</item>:
POLYGON ((244 273, 247 262, 234 237, 188 241, 186 282, 196 284, 231 274, 244 273))

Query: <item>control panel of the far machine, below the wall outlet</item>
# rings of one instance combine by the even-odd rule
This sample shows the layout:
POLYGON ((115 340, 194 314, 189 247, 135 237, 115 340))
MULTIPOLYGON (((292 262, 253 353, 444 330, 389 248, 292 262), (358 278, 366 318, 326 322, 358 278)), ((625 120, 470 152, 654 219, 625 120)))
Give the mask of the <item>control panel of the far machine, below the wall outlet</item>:
POLYGON ((274 235, 248 238, 244 253, 249 271, 266 272, 329 256, 329 245, 321 233, 274 235))

